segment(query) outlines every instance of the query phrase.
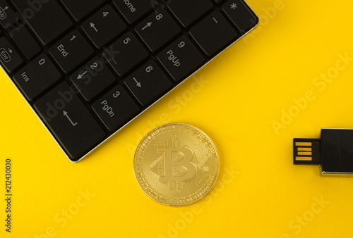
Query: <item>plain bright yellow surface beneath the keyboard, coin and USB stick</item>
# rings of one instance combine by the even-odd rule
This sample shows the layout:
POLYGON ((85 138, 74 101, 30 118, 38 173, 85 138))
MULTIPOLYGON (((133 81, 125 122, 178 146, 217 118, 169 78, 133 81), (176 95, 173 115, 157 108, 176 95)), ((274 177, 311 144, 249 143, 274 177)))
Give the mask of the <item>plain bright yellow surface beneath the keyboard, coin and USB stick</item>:
POLYGON ((340 59, 353 58, 353 3, 249 4, 262 20, 250 37, 77 164, 1 73, 0 237, 352 237, 352 177, 292 165, 292 138, 353 127, 353 61, 340 59), (140 139, 172 122, 199 127, 220 154, 217 185, 194 206, 152 201, 133 175, 140 139))

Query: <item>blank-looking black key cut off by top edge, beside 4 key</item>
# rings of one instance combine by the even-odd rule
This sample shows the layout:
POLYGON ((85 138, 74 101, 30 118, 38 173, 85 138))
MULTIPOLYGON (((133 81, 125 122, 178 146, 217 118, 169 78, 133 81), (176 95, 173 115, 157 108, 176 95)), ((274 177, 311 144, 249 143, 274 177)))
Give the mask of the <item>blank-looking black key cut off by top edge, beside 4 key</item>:
POLYGON ((106 0, 61 0, 76 21, 81 20, 104 1, 106 0))

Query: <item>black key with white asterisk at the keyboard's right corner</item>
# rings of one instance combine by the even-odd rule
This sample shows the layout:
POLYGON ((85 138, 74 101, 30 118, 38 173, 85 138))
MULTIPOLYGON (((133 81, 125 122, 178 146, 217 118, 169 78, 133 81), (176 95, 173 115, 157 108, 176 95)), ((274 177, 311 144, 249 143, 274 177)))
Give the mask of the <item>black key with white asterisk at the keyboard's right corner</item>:
POLYGON ((241 0, 227 1, 222 9, 240 32, 246 32, 257 23, 256 16, 241 0))

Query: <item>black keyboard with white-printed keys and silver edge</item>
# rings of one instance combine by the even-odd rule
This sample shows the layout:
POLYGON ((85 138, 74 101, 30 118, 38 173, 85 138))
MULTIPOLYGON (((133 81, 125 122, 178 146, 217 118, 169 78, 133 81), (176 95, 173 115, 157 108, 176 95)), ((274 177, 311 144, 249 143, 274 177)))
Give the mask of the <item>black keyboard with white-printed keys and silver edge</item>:
POLYGON ((79 161, 258 25, 241 0, 0 0, 0 61, 79 161))

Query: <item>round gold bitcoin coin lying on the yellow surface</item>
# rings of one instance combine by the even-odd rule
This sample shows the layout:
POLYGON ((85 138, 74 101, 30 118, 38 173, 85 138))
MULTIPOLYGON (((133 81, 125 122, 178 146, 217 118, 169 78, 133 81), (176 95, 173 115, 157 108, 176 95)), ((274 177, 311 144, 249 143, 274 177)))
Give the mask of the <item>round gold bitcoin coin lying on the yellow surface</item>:
POLYGON ((205 197, 217 180, 215 145, 198 128, 168 124, 148 133, 133 161, 136 180, 151 199, 185 206, 205 197))

